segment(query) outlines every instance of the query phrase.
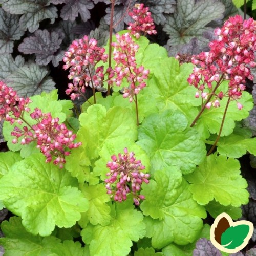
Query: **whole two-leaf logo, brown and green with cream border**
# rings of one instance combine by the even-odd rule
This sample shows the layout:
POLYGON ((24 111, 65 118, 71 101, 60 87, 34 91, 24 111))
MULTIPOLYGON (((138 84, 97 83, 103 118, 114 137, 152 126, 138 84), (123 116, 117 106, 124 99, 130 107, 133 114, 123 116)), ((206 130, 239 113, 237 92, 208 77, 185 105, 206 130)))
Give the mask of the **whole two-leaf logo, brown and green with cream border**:
POLYGON ((231 217, 223 212, 217 216, 210 228, 210 241, 221 251, 236 253, 248 244, 252 233, 252 222, 233 222, 231 217))

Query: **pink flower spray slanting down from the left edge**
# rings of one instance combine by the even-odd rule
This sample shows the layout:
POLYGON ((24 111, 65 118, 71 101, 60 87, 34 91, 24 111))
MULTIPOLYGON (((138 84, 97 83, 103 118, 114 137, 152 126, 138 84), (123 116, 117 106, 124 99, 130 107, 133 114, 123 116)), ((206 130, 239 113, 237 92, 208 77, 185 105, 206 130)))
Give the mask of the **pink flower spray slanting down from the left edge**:
POLYGON ((44 114, 38 108, 30 114, 31 119, 36 121, 36 124, 31 125, 32 120, 24 117, 24 113, 30 111, 28 104, 31 102, 29 98, 18 97, 16 91, 0 81, 0 120, 11 124, 26 123, 22 129, 14 127, 11 132, 15 137, 12 143, 18 143, 20 138, 22 145, 36 141, 37 147, 47 158, 46 162, 51 162, 54 157, 53 163, 62 168, 66 162, 65 156, 70 154, 69 150, 80 146, 81 142, 74 143, 76 134, 69 131, 65 124, 58 124, 58 118, 52 118, 50 113, 44 114))

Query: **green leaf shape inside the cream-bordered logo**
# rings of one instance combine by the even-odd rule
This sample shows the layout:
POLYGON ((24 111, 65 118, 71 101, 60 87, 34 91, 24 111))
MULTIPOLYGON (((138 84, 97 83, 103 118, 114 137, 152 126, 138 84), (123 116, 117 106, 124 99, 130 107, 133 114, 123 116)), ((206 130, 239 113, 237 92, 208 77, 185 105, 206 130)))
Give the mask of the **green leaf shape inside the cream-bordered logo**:
POLYGON ((245 224, 229 227, 221 235, 221 245, 227 249, 240 246, 248 236, 250 227, 245 224))

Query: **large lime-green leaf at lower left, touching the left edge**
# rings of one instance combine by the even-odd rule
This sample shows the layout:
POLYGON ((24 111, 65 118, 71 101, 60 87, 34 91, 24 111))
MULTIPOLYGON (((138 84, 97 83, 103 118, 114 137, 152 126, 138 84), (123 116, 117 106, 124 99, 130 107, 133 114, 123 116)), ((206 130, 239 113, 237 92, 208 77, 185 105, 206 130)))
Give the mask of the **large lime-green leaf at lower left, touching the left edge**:
POLYGON ((0 199, 33 234, 49 236, 55 225, 71 227, 89 202, 77 188, 76 179, 65 169, 45 163, 38 153, 22 160, 0 179, 0 199))

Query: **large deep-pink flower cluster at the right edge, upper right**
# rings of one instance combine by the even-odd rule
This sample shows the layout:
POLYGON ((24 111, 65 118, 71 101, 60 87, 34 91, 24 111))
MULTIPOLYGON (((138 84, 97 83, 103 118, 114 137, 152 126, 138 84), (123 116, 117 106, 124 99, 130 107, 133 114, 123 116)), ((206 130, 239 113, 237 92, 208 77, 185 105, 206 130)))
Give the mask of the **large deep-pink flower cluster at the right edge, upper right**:
MULTIPOLYGON (((252 18, 243 20, 239 15, 230 17, 222 28, 215 30, 215 35, 218 39, 210 42, 210 51, 192 58, 192 63, 199 67, 195 67, 187 79, 198 89, 197 98, 200 93, 205 100, 209 95, 214 96, 206 108, 220 106, 219 100, 223 97, 236 101, 240 99, 245 90, 245 78, 253 80, 250 68, 256 66, 256 22, 252 18), (220 84, 223 80, 229 80, 227 91, 215 94, 213 83, 220 84), (204 91, 205 88, 208 92, 204 91)), ((238 109, 242 108, 239 102, 237 105, 238 109)))

